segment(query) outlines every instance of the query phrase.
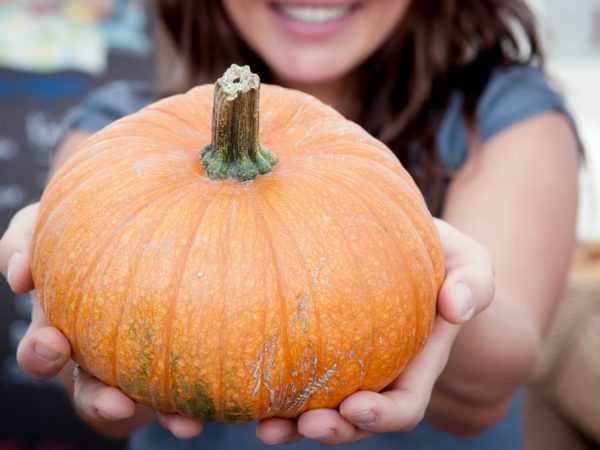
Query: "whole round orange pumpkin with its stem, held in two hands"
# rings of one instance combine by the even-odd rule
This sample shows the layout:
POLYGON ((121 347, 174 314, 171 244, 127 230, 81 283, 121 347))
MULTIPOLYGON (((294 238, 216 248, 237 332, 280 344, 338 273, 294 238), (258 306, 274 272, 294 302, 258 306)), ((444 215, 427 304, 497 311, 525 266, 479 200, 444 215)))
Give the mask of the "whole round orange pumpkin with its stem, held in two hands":
POLYGON ((444 277, 422 195, 315 98, 259 97, 247 67, 215 86, 112 123, 51 180, 32 241, 49 323, 163 412, 295 417, 381 390, 423 347, 444 277))

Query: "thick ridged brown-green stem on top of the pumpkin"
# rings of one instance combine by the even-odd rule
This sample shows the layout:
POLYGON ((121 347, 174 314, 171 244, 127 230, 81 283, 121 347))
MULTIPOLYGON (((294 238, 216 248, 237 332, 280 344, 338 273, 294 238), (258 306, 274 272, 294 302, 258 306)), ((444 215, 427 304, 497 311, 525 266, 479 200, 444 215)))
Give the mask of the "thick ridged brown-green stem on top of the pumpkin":
POLYGON ((200 156, 210 178, 250 181, 277 162, 258 142, 259 87, 258 75, 236 64, 215 83, 212 142, 200 156))

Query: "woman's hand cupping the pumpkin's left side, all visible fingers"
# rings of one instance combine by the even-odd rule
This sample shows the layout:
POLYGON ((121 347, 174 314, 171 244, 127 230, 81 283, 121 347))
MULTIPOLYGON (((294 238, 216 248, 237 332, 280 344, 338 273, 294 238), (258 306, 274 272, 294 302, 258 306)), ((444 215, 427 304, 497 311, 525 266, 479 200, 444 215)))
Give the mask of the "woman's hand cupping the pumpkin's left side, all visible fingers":
MULTIPOLYGON (((0 272, 15 293, 33 289, 29 251, 38 215, 38 204, 20 210, 0 239, 0 272)), ((65 336, 50 327, 33 296, 31 324, 17 349, 21 370, 35 380, 58 375, 73 391, 73 404, 80 416, 101 432, 124 437, 155 418, 149 408, 134 403, 119 389, 106 386, 71 361, 71 346, 65 336), (73 375, 71 375, 73 374, 73 375)), ((199 434, 202 424, 177 414, 159 414, 161 424, 180 438, 199 434)))

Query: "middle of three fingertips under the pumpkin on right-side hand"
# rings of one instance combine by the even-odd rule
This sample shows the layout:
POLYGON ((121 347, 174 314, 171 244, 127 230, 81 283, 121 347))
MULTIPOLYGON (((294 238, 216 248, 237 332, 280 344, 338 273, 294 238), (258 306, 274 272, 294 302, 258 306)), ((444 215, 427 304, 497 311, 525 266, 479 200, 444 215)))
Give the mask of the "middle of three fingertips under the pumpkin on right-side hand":
POLYGON ((298 419, 298 432, 325 445, 343 445, 366 439, 368 431, 356 428, 334 409, 314 409, 298 419))

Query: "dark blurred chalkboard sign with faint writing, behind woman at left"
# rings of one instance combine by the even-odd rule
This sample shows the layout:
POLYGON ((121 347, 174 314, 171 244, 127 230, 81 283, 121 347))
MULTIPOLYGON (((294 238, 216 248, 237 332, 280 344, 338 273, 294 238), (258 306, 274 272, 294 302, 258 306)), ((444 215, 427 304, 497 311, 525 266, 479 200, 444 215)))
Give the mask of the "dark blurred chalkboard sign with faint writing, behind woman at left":
MULTIPOLYGON (((153 67, 150 57, 114 54, 101 76, 0 69, 0 233, 39 199, 65 112, 109 81, 148 80, 153 67)), ((56 382, 35 382, 19 370, 15 351, 30 312, 29 296, 13 295, 0 281, 0 449, 125 448, 84 425, 56 382)))

